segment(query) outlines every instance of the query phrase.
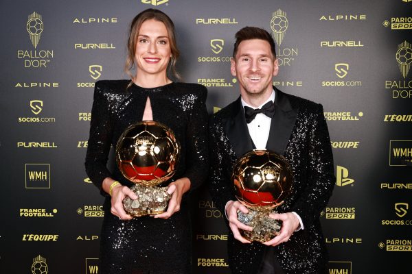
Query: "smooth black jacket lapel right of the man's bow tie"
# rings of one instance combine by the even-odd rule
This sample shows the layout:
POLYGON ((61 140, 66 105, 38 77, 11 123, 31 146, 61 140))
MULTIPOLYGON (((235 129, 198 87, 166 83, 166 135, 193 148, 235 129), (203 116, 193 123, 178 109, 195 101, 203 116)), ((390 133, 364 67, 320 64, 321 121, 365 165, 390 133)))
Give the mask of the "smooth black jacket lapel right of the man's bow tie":
POLYGON ((292 108, 288 97, 284 92, 275 90, 275 115, 271 121, 271 129, 269 132, 268 142, 266 143, 266 149, 275 151, 280 155, 284 155, 286 145, 292 134, 293 127, 295 125, 297 110, 292 108))

